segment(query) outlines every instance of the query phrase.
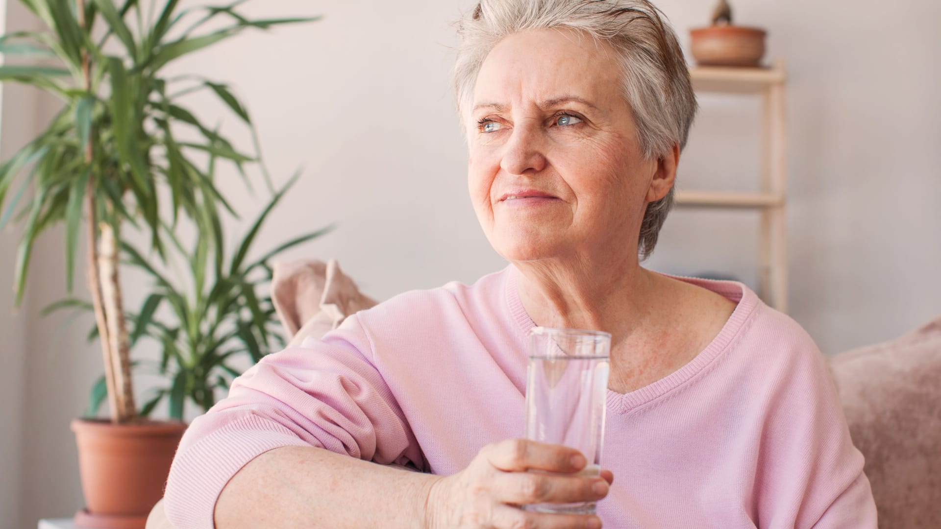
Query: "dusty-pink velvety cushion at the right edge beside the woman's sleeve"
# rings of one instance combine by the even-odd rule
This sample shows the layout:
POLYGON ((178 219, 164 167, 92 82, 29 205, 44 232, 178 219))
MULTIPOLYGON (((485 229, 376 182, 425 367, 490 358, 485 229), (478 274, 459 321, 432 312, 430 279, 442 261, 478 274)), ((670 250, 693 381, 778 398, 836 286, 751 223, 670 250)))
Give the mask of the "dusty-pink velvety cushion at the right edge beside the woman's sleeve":
POLYGON ((941 318, 833 357, 881 529, 941 525, 941 318))

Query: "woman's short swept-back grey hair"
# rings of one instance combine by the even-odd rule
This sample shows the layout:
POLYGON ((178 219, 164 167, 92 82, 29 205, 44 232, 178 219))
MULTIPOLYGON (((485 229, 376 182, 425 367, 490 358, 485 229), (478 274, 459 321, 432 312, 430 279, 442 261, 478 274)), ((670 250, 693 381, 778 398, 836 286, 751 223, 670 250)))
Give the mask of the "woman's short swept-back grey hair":
MULTIPOLYGON (((673 29, 648 0, 481 0, 457 24, 457 112, 465 120, 477 74, 498 42, 534 29, 572 29, 607 42, 623 65, 624 96, 646 159, 686 146, 696 113, 690 73, 673 29)), ((646 259, 673 207, 674 190, 647 204, 637 251, 646 259)))

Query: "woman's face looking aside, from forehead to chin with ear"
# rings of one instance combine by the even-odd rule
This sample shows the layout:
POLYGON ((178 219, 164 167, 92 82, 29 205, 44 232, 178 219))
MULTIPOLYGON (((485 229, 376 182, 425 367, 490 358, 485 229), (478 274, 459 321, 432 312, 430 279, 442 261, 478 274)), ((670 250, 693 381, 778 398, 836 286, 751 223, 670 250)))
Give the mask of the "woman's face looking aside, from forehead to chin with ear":
POLYGON ((572 31, 517 33, 486 57, 465 116, 468 179, 504 258, 636 258, 646 202, 662 195, 620 72, 607 44, 572 31))

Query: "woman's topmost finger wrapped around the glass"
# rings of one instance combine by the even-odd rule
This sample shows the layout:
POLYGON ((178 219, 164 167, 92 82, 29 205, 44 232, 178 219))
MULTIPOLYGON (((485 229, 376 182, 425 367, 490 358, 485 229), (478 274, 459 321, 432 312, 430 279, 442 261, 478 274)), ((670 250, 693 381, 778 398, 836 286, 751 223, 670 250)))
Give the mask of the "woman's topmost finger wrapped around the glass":
POLYGON ((558 444, 508 439, 487 445, 486 458, 503 472, 525 472, 530 469, 552 473, 576 473, 585 464, 578 450, 558 444))

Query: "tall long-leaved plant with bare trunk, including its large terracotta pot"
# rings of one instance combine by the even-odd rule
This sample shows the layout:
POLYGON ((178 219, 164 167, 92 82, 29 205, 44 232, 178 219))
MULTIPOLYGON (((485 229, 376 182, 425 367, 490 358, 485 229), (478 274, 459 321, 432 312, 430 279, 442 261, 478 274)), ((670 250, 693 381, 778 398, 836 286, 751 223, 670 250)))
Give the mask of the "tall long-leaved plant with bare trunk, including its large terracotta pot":
MULTIPOLYGON (((11 218, 22 221, 24 228, 16 258, 16 300, 18 304, 22 300, 30 253, 41 232, 57 224, 65 227, 70 291, 78 240, 84 237, 90 306, 102 345, 104 393, 111 420, 77 421, 73 429, 80 452, 97 446, 105 455, 143 457, 124 457, 108 466, 100 461, 86 464, 90 459, 80 455, 83 489, 91 516, 109 516, 108 526, 142 527, 159 498, 183 425, 144 421, 136 408, 131 339, 152 327, 135 327, 134 335, 128 332, 120 255, 123 251, 133 259, 133 252, 125 231, 133 230, 136 239, 142 237, 145 251, 160 261, 167 257, 167 243, 173 244, 168 234, 180 218, 188 218, 204 247, 196 258, 214 255, 221 259, 224 248, 215 247, 220 215, 235 213, 216 187, 215 163, 228 161, 245 174, 247 163, 259 161, 257 155, 238 152, 226 136, 205 126, 181 100, 187 93, 207 90, 254 133, 245 106, 229 88, 199 75, 169 76, 165 69, 181 56, 248 28, 315 19, 249 20, 236 10, 244 0, 187 9, 179 8, 178 0, 152 2, 147 8, 137 0, 124 0, 120 7, 113 0, 21 2, 46 29, 0 37, 0 53, 8 58, 39 59, 40 64, 0 66, 0 82, 41 88, 59 98, 63 107, 39 136, 0 165, 0 229, 11 218), (183 140, 184 129, 188 129, 185 137, 199 139, 183 140), (206 158, 208 164, 199 163, 206 158), (27 190, 31 190, 29 195, 27 190), (162 441, 164 448, 150 447, 146 444, 150 441, 162 441), (116 448, 116 443, 131 447, 116 448), (107 473, 108 468, 114 473, 107 473), (89 473, 92 470, 105 473, 89 473), (148 472, 151 477, 141 475, 148 472), (119 483, 127 477, 130 481, 119 483), (89 492, 96 484, 108 482, 121 490, 117 501, 89 492), (136 505, 134 496, 139 496, 136 505)), ((192 383, 194 378, 187 377, 192 383)), ((79 519, 95 522, 82 518, 82 513, 79 519)))

